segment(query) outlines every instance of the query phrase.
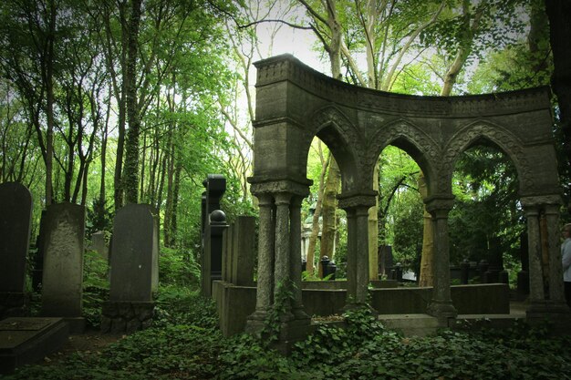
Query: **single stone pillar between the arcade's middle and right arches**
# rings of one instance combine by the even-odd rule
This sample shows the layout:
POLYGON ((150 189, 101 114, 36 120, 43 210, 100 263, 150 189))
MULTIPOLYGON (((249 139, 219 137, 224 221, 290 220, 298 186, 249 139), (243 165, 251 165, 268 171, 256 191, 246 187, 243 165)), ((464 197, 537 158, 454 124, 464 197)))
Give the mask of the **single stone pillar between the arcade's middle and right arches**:
POLYGON ((427 210, 432 216, 434 252, 432 258, 433 288, 427 313, 439 319, 455 318, 458 312, 452 304, 450 291, 450 252, 448 213, 452 210, 453 196, 429 197, 427 210))

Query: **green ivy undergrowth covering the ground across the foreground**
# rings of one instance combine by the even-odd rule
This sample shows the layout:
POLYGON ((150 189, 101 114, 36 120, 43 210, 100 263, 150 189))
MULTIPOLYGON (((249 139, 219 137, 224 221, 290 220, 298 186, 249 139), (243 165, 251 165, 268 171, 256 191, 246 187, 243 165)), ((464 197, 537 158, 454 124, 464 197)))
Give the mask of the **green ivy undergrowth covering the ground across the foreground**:
POLYGON ((288 356, 248 335, 224 338, 213 302, 163 289, 155 324, 99 353, 72 354, 3 379, 569 379, 571 339, 515 324, 407 338, 367 310, 324 324, 288 356))

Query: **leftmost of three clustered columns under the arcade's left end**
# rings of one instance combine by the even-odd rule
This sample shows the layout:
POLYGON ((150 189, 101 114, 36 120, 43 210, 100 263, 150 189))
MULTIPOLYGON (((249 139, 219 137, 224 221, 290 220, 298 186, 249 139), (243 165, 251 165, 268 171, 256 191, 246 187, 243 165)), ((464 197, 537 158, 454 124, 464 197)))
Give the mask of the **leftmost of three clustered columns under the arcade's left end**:
POLYGON ((272 278, 274 277, 274 237, 272 209, 274 199, 269 194, 258 195, 260 226, 258 231, 258 282, 255 298, 255 312, 250 319, 264 320, 272 304, 272 278))

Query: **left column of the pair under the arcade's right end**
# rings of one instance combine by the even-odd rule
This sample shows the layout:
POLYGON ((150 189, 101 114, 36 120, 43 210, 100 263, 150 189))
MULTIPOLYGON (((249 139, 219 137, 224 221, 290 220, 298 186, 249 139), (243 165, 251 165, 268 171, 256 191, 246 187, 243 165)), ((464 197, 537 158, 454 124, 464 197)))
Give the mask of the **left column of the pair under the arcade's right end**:
POLYGON ((537 206, 524 206, 524 211, 527 219, 527 246, 529 249, 529 298, 531 303, 544 303, 539 209, 537 206))

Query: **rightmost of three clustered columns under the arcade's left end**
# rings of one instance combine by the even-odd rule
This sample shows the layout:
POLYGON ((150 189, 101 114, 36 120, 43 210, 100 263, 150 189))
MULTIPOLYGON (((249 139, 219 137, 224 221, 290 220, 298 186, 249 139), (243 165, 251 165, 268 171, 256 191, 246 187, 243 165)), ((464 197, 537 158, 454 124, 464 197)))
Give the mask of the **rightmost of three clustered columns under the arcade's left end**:
POLYGON ((294 196, 289 207, 289 276, 293 282, 294 300, 292 311, 296 319, 309 319, 304 311, 301 293, 301 202, 303 198, 294 196))

